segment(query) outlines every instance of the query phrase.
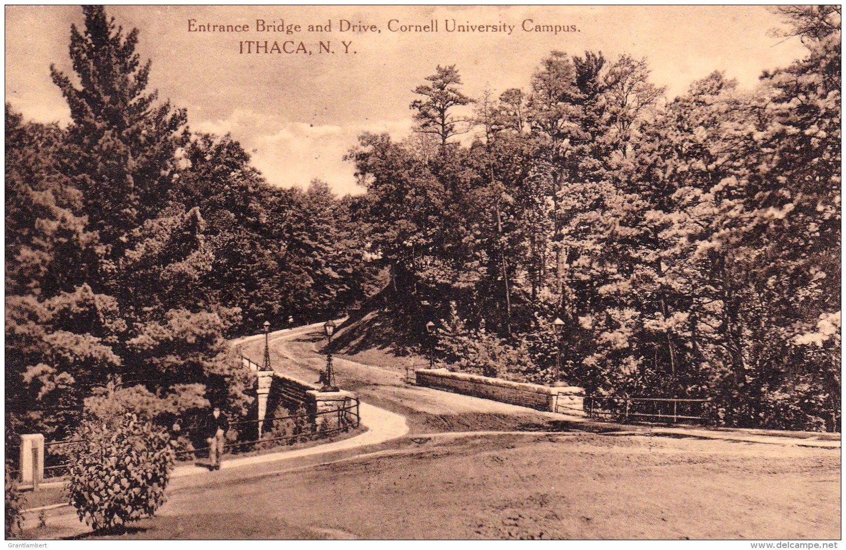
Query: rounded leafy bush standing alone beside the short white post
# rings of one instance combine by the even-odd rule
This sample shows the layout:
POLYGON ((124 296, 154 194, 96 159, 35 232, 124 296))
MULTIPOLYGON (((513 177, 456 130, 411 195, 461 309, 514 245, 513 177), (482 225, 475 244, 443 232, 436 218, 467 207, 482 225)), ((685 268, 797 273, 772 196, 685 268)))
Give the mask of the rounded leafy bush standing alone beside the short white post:
POLYGON ((127 414, 85 421, 69 468, 69 497, 96 530, 152 516, 165 502, 174 453, 161 427, 127 414))

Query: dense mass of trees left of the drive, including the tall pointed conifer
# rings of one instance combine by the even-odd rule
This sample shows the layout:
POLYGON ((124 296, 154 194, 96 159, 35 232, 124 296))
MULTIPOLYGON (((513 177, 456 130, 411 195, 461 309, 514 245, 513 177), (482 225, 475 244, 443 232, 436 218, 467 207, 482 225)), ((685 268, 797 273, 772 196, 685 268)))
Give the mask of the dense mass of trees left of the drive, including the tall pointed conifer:
POLYGON ((272 188, 238 142, 192 133, 146 90, 138 31, 83 10, 74 74, 52 68, 69 126, 6 106, 7 433, 61 438, 85 411, 246 412, 228 337, 364 298, 354 200, 272 188))

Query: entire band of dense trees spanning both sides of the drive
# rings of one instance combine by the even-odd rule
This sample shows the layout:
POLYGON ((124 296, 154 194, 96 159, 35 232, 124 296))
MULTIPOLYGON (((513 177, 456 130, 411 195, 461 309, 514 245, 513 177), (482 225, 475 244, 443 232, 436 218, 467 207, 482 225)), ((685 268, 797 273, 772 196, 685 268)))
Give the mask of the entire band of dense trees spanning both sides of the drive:
POLYGON ((777 9, 807 55, 755 90, 717 71, 668 101, 645 59, 551 52, 474 100, 438 66, 415 132, 363 134, 365 194, 338 199, 192 132, 137 31, 85 8, 74 74, 52 70, 72 123, 6 107, 7 433, 246 411, 226 338, 361 303, 399 348, 435 321, 455 368, 552 383, 560 350, 594 395, 839 429, 840 10, 777 9))

